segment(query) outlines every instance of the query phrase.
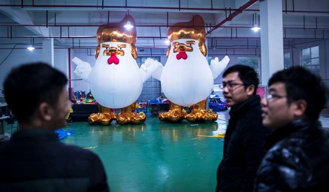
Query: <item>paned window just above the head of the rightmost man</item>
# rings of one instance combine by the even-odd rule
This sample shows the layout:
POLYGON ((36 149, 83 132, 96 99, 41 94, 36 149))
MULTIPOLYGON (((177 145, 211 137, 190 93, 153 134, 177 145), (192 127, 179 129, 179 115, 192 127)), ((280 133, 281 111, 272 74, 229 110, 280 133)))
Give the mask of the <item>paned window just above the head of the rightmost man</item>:
POLYGON ((302 66, 315 74, 320 73, 319 46, 302 49, 302 66))

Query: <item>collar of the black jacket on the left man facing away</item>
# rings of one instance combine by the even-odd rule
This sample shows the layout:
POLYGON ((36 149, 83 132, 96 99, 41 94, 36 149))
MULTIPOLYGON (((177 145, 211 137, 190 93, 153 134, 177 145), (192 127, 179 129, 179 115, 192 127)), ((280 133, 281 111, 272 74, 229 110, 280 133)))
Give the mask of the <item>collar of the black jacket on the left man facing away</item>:
POLYGON ((33 129, 33 130, 20 130, 12 135, 12 142, 16 141, 58 141, 57 135, 53 131, 33 129))

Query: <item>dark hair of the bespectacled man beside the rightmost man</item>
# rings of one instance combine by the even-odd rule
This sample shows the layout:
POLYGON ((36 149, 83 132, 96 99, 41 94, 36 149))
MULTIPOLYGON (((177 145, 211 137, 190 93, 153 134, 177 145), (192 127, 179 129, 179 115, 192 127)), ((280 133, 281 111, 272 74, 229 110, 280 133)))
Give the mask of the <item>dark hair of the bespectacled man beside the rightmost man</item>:
POLYGON ((254 95, 256 95, 259 79, 257 77, 256 71, 249 66, 246 65, 233 65, 226 69, 223 73, 223 78, 229 73, 238 72, 238 76, 244 84, 244 87, 247 88, 249 85, 255 86, 254 95))

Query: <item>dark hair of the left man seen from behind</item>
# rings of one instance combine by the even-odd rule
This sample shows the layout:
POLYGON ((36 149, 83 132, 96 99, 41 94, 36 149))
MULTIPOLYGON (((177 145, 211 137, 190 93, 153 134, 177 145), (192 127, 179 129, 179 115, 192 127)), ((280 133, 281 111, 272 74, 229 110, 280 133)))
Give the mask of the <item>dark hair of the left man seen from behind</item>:
POLYGON ((4 80, 4 96, 19 122, 28 122, 41 102, 55 107, 67 83, 65 75, 46 63, 13 68, 4 80))

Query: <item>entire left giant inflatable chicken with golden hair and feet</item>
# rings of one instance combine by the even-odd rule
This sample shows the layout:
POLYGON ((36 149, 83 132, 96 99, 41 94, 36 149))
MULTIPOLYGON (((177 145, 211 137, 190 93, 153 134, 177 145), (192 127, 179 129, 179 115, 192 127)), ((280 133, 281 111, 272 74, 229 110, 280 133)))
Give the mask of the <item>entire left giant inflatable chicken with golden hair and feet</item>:
POLYGON ((109 125, 115 119, 121 125, 139 124, 146 119, 145 114, 135 112, 135 103, 143 83, 155 71, 157 63, 138 67, 136 27, 126 29, 127 21, 135 25, 134 18, 127 15, 119 23, 104 24, 98 28, 93 68, 77 57, 72 59, 77 64, 74 73, 89 82, 90 90, 99 103, 99 113, 89 116, 89 124, 109 125), (118 115, 112 113, 112 109, 117 108, 122 108, 118 115))

